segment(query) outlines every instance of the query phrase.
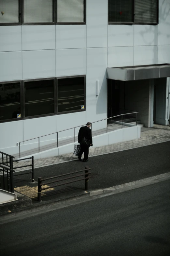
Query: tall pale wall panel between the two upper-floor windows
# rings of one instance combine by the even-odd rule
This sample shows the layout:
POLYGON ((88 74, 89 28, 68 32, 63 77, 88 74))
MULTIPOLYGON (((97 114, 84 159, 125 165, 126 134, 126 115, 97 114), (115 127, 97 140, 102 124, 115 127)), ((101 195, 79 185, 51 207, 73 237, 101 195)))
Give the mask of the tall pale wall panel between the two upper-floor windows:
POLYGON ((87 47, 107 47, 107 0, 86 0, 87 47))

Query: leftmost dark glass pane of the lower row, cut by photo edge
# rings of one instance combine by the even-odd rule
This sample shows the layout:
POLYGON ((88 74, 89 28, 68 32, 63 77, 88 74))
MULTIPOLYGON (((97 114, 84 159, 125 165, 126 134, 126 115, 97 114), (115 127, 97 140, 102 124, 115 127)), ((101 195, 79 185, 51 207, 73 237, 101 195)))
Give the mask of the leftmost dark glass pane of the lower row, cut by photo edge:
POLYGON ((20 84, 21 82, 0 84, 0 121, 21 119, 20 84))

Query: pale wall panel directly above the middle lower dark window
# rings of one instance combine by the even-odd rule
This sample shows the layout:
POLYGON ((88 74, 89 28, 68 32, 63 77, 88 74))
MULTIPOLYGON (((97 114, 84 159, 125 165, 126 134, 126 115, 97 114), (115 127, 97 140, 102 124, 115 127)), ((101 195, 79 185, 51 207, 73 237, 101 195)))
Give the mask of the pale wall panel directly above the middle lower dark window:
POLYGON ((23 51, 23 79, 55 77, 55 50, 23 51))

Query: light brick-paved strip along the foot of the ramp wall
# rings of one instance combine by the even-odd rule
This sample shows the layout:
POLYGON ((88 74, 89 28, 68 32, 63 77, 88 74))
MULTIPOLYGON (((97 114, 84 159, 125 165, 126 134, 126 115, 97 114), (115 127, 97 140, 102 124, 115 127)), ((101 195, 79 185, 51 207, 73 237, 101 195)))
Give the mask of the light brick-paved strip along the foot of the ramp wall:
MULTIPOLYGON (((162 143, 166 141, 170 141, 170 126, 154 125, 153 128, 142 127, 140 139, 116 143, 116 144, 102 146, 102 147, 90 148, 89 157, 104 155, 108 153, 114 153, 122 150, 162 143)), ((34 161, 34 168, 74 161, 76 159, 77 157, 74 156, 73 153, 49 157, 49 158, 37 159, 34 161)), ((29 163, 30 161, 22 162, 22 163, 15 162, 13 167, 26 165, 29 163)), ((16 172, 21 170, 27 170, 27 169, 30 169, 30 168, 28 167, 19 168, 16 170, 16 172)))

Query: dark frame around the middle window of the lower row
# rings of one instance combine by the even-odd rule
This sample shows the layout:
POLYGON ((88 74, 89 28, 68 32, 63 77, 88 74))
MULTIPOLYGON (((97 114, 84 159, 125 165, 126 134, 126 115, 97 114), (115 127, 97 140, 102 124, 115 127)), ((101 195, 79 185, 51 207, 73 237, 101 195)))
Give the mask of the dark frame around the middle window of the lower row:
POLYGON ((52 116, 52 115, 56 115, 56 92, 55 92, 55 77, 49 77, 49 78, 37 78, 37 79, 25 79, 22 80, 22 100, 23 100, 23 119, 32 119, 32 118, 39 118, 39 117, 46 117, 46 116, 52 116), (25 86, 24 83, 25 82, 33 82, 33 81, 44 81, 44 80, 53 80, 53 88, 54 88, 54 113, 50 113, 50 114, 41 114, 41 115, 33 115, 33 116, 25 116, 25 86))

